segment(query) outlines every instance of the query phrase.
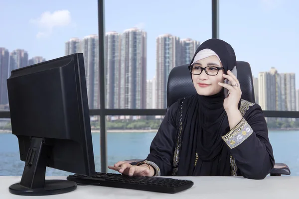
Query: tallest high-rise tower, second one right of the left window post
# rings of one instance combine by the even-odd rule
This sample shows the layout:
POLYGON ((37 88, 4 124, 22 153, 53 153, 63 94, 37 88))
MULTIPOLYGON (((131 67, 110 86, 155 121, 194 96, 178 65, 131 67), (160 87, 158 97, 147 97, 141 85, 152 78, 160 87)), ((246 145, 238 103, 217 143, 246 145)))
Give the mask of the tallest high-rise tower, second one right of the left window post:
POLYGON ((121 35, 121 108, 146 108, 147 33, 139 28, 121 35))

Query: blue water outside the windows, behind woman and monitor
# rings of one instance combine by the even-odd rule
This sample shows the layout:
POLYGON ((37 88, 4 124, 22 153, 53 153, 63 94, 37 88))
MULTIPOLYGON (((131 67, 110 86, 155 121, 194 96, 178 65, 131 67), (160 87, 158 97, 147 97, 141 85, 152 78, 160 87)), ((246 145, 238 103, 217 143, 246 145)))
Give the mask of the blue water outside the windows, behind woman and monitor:
MULTIPOLYGON (((145 159, 155 133, 107 133, 108 165, 120 160, 145 159)), ((101 170, 100 134, 93 133, 96 171, 101 170)), ((299 176, 299 131, 271 131, 269 139, 276 162, 287 164, 292 176, 299 176)), ((11 133, 0 133, 0 176, 21 176, 24 162, 19 159, 18 142, 11 133)), ((110 173, 115 173, 109 170, 110 173)), ((47 176, 67 176, 72 173, 47 168, 47 176)))

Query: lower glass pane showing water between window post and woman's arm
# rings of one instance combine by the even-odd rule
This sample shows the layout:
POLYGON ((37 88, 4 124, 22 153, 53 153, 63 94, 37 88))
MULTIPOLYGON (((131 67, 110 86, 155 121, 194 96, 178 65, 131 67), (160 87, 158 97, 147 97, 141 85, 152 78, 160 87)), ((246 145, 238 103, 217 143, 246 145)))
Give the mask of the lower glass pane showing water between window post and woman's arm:
MULTIPOLYGON (((146 159, 163 115, 109 115, 106 118, 108 165, 118 161, 146 159)), ((110 173, 116 173, 108 169, 110 173)))

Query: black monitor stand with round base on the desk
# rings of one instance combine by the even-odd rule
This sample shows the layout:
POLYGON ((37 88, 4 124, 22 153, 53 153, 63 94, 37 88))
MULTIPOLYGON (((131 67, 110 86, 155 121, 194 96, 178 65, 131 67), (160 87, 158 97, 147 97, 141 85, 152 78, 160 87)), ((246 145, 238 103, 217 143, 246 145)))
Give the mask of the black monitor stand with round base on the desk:
POLYGON ((77 184, 68 180, 45 180, 49 146, 43 138, 32 137, 20 183, 9 187, 9 192, 22 196, 56 195, 74 191, 77 184))

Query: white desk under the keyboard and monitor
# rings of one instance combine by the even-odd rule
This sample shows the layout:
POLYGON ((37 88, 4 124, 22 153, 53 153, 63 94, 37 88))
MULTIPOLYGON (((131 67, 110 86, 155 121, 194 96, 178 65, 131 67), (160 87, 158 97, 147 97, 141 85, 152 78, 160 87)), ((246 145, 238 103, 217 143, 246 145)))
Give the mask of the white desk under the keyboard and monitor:
MULTIPOLYGON (((34 199, 298 199, 299 177, 267 177, 264 180, 249 180, 243 177, 175 177, 192 180, 191 189, 177 194, 162 194, 100 186, 78 186, 73 192, 53 196, 38 196, 34 199)), ((11 184, 20 177, 0 176, 0 199, 21 199, 26 196, 12 195, 11 184)), ((46 177, 66 179, 66 177, 46 177)), ((33 199, 33 198, 32 198, 33 199)))

